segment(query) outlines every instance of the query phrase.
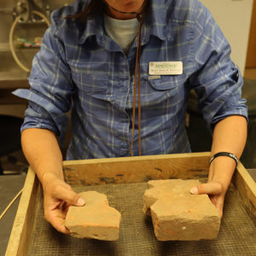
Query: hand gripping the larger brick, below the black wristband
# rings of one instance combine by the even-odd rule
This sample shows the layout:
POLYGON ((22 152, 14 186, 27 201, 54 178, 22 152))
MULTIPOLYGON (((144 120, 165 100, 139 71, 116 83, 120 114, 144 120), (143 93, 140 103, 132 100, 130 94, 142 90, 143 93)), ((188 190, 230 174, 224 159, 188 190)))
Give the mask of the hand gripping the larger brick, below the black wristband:
POLYGON ((219 217, 222 218, 226 189, 224 189, 224 186, 221 183, 217 181, 202 183, 190 189, 190 193, 195 195, 209 195, 212 204, 218 209, 219 217))

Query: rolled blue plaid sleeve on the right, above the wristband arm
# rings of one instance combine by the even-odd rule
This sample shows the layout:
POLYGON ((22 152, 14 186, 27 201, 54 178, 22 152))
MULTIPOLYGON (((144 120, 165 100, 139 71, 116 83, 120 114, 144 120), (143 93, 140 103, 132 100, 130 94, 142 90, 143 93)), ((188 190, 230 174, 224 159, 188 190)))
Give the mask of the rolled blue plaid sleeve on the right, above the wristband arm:
POLYGON ((189 82, 198 95, 198 108, 212 129, 230 115, 247 118, 247 106, 241 98, 241 73, 230 60, 230 44, 202 4, 197 15, 193 42, 197 71, 189 82))

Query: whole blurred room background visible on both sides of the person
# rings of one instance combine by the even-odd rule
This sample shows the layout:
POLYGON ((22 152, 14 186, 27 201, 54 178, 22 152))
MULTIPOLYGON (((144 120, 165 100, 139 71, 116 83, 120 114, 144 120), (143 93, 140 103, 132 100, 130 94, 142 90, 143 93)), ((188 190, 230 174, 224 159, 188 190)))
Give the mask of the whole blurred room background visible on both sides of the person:
MULTIPOLYGON (((232 60, 245 80, 243 96, 249 108, 247 147, 241 162, 256 168, 256 7, 253 0, 202 0, 223 30, 232 48, 232 60)), ((29 88, 32 57, 40 48, 52 10, 72 0, 1 0, 0 2, 0 175, 26 173, 20 147, 20 125, 26 101, 13 96, 29 88)), ((195 93, 189 96, 187 129, 194 152, 209 151, 211 135, 197 110, 195 93)), ((63 154, 70 137, 68 129, 63 154)))

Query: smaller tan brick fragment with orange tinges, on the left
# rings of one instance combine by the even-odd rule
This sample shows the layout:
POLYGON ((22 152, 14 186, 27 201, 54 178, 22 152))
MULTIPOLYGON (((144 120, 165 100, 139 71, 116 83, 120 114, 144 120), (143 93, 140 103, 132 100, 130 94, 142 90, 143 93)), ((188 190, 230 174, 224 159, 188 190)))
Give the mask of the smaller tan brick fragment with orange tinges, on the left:
POLYGON ((69 207, 65 226, 71 236, 115 241, 119 239, 121 214, 109 207, 108 198, 96 191, 79 194, 85 201, 83 207, 69 207))

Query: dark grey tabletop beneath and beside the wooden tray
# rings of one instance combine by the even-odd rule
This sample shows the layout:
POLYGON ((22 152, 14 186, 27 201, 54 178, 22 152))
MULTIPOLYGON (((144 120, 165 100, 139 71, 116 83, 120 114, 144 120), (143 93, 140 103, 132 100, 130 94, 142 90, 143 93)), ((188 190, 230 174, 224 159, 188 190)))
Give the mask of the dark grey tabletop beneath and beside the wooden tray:
MULTIPOLYGON (((256 168, 247 170, 254 181, 256 182, 256 168)), ((21 175, 3 175, 0 176, 0 214, 9 205, 17 195, 17 193, 22 189, 26 179, 26 174, 21 175)), ((15 214, 19 205, 20 197, 14 202, 9 211, 5 213, 3 218, 0 220, 0 256, 5 254, 10 232, 15 220, 15 214)))

